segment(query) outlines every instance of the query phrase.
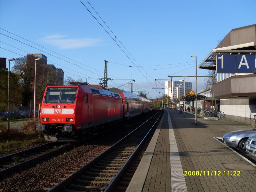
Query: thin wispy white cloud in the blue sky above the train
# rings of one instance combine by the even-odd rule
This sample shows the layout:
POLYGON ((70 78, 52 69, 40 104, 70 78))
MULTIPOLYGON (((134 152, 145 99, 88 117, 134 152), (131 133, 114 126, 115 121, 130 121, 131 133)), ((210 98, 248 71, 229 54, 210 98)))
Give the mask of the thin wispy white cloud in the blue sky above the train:
POLYGON ((51 44, 60 49, 76 49, 76 48, 84 48, 84 47, 94 47, 100 44, 100 39, 98 38, 67 38, 67 35, 59 35, 54 34, 50 36, 45 36, 40 39, 46 44, 51 44))

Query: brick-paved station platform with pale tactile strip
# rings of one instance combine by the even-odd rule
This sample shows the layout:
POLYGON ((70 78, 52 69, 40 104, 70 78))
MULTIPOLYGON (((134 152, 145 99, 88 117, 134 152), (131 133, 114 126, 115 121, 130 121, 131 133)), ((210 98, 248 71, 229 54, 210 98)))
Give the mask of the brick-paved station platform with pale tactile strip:
POLYGON ((127 191, 256 191, 256 165, 215 139, 252 128, 164 109, 127 191))

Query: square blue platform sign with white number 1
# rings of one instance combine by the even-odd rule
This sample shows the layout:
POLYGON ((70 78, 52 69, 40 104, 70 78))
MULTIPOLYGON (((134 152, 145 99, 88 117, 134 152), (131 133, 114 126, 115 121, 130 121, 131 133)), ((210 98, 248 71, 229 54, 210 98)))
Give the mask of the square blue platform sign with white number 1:
POLYGON ((217 55, 217 73, 236 73, 236 55, 217 55))

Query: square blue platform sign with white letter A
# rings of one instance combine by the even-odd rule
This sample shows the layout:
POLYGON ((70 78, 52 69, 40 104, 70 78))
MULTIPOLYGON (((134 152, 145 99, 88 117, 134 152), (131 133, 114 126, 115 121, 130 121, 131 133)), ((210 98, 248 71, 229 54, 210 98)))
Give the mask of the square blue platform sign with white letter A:
POLYGON ((236 55, 236 73, 255 73, 255 55, 236 55))

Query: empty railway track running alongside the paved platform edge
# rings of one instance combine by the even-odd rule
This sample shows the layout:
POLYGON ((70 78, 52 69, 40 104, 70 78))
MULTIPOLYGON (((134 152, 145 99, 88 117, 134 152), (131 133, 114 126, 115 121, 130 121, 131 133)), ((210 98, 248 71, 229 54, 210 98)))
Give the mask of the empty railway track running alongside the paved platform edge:
POLYGON ((143 142, 159 120, 161 113, 158 111, 134 131, 67 178, 60 178, 62 180, 60 183, 52 183, 56 184, 54 187, 44 189, 48 192, 111 191, 143 146, 143 142))

